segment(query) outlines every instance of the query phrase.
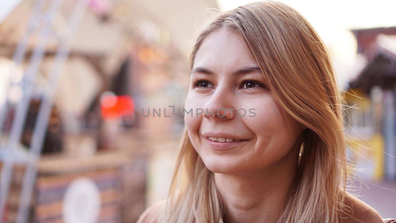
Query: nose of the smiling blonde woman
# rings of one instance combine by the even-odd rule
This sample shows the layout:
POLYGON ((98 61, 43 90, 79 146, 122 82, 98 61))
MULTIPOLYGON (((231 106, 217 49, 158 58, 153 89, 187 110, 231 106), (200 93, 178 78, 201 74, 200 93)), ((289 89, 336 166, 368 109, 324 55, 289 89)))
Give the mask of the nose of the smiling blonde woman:
POLYGON ((218 87, 204 106, 204 115, 207 119, 233 119, 236 108, 232 103, 232 94, 225 87, 218 87))

